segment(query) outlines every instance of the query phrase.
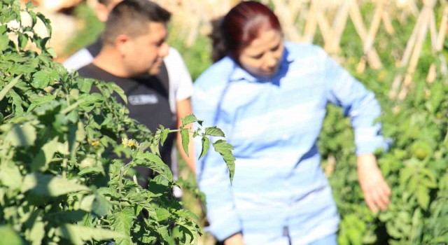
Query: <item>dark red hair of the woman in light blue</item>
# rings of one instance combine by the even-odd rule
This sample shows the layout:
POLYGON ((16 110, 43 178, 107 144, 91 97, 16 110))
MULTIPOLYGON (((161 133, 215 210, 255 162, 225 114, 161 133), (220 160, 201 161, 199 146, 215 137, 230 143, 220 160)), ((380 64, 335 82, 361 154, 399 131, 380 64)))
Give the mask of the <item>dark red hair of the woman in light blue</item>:
POLYGON ((267 6, 257 1, 243 1, 224 16, 221 23, 225 54, 238 62, 242 50, 258 37, 263 28, 281 32, 279 19, 267 6))

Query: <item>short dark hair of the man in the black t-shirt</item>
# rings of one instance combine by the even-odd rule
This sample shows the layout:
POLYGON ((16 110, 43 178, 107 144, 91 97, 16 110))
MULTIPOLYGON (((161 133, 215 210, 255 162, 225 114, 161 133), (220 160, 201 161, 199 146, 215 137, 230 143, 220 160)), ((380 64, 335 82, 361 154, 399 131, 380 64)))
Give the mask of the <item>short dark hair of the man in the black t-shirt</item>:
POLYGON ((125 0, 118 3, 109 14, 102 34, 103 43, 113 43, 119 35, 132 38, 148 34, 148 23, 167 23, 171 18, 165 8, 148 0, 125 0))

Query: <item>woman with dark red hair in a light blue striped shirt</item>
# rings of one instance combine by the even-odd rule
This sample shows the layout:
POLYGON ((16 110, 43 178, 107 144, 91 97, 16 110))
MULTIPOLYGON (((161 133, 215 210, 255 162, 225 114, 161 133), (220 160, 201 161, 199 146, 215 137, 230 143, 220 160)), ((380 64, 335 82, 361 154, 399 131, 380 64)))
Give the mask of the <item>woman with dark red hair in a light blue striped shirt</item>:
POLYGON ((385 146, 374 94, 321 48, 283 42, 262 3, 239 3, 221 31, 226 56, 193 93, 197 118, 221 127, 235 147, 232 184, 215 152, 196 167, 208 231, 224 244, 336 244, 339 217, 316 146, 328 102, 351 118, 367 205, 386 209, 391 191, 372 154, 385 146))

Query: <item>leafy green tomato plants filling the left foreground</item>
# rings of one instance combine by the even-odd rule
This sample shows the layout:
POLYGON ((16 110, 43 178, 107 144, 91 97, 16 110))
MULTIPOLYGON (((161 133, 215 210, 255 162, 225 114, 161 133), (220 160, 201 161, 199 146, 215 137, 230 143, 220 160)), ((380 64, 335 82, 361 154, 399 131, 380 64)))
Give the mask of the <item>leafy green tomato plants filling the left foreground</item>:
MULTIPOLYGON (((111 96, 126 99, 120 87, 52 62, 48 38, 21 25, 25 11, 51 31, 29 7, 0 3, 0 243, 196 244, 198 220, 173 197, 179 184, 159 153, 167 134, 193 134, 186 125, 195 116, 153 135, 111 96), (136 166, 156 173, 148 189, 137 185, 136 166)), ((195 136, 207 135, 201 130, 195 136)), ((230 159, 229 149, 217 151, 230 159)))

